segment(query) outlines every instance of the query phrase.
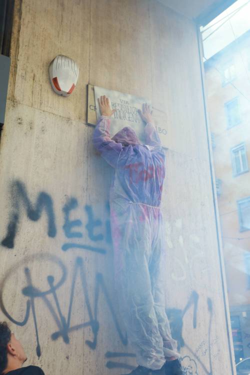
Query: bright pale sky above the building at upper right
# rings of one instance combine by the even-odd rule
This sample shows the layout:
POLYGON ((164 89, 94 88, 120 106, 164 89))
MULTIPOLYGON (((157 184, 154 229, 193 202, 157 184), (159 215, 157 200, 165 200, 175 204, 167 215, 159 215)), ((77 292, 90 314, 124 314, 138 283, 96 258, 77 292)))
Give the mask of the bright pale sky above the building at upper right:
POLYGON ((237 0, 200 28, 205 58, 210 58, 249 29, 250 0, 237 0))

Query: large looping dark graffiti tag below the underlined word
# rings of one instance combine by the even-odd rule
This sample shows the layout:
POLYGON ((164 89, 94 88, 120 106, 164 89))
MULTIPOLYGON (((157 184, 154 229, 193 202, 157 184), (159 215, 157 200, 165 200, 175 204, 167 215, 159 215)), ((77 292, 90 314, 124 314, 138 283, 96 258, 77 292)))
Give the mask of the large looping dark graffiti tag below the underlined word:
POLYGON ((72 272, 72 282, 71 282, 71 288, 70 288, 70 294, 69 294, 69 307, 67 311, 67 315, 64 316, 60 302, 57 297, 57 289, 61 287, 61 285, 64 283, 67 277, 67 270, 63 262, 56 256, 52 256, 49 254, 34 254, 32 256, 24 258, 21 262, 16 264, 11 269, 7 270, 5 273, 5 276, 0 282, 0 308, 4 315, 14 324, 16 325, 25 325, 29 319, 30 312, 32 314, 33 322, 34 322, 34 328, 35 328, 35 334, 36 334, 36 353, 37 356, 40 356, 41 349, 40 349, 40 343, 39 343, 39 332, 37 328, 37 313, 35 309, 35 300, 37 298, 40 298, 45 307, 47 308, 48 312, 51 314, 56 326, 57 330, 51 333, 51 339, 56 340, 59 337, 62 337, 63 341, 65 343, 69 343, 69 333, 81 328, 90 327, 93 339, 92 340, 86 340, 86 344, 91 348, 94 349, 97 344, 97 336, 99 331, 99 321, 98 321, 98 304, 99 304, 99 296, 100 292, 102 292, 104 299, 108 305, 110 315, 112 317, 115 329, 117 331, 117 334, 121 340, 121 342, 126 345, 127 344, 127 337, 125 333, 122 333, 118 318, 116 316, 115 310, 113 308, 113 305, 111 303, 111 298, 109 296, 109 293, 107 291, 106 285, 103 280, 103 276, 101 273, 96 273, 95 275, 95 287, 94 287, 94 303, 93 306, 90 304, 89 300, 89 293, 88 293, 88 284, 85 276, 85 268, 83 259, 81 257, 77 257, 75 259, 75 263, 73 266, 73 272, 72 272), (40 290, 39 287, 33 285, 32 278, 31 278, 31 272, 30 268, 25 266, 29 262, 38 261, 39 264, 41 262, 47 263, 54 263, 59 267, 61 276, 58 281, 55 282, 55 277, 53 275, 47 275, 47 282, 48 282, 48 288, 46 290, 40 290), (5 308, 4 303, 4 286, 8 284, 9 278, 16 272, 16 270, 21 267, 23 268, 25 279, 26 279, 26 286, 22 288, 22 294, 27 297, 26 301, 26 309, 24 313, 24 318, 22 320, 17 320, 13 316, 10 315, 10 313, 5 308), (76 325, 71 325, 70 318, 71 318, 71 311, 72 306, 74 302, 74 289, 75 289, 75 282, 77 277, 80 278, 81 282, 81 290, 82 295, 84 298, 84 303, 87 308, 88 318, 89 320, 86 322, 79 322, 76 325), (53 304, 51 303, 50 299, 48 298, 48 295, 52 296, 53 301, 55 302, 56 308, 53 307, 53 304))

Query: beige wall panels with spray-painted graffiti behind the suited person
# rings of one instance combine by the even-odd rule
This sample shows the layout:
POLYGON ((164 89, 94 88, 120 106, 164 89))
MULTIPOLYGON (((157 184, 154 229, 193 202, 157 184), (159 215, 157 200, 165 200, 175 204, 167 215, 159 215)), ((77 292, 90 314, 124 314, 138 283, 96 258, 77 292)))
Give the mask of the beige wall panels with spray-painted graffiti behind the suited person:
POLYGON ((186 373, 232 373, 196 28, 155 0, 16 1, 0 144, 0 319, 12 321, 28 363, 46 374, 118 374, 135 364, 124 356, 112 171, 91 145, 88 82, 150 97, 167 112, 162 208, 173 334, 186 373), (58 53, 79 65, 68 98, 48 81, 58 53))

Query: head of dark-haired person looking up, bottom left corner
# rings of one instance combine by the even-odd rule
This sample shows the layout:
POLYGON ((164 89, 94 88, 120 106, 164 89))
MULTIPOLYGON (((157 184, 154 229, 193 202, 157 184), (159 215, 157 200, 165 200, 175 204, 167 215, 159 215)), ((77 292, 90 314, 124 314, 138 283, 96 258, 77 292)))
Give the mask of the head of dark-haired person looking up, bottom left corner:
POLYGON ((26 359, 21 343, 11 333, 8 324, 0 322, 0 375, 21 367, 26 359))

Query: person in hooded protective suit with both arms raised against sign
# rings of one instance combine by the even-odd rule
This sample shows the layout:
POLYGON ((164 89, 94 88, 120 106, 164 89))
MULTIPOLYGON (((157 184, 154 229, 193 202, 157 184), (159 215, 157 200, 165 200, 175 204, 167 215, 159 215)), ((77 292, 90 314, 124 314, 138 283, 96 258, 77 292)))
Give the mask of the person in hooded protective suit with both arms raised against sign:
POLYGON ((165 313, 165 234, 160 200, 165 154, 149 106, 140 111, 145 144, 131 127, 110 138, 109 99, 98 98, 101 116, 93 145, 114 168, 110 222, 119 308, 138 366, 131 375, 182 375, 177 343, 165 313))

